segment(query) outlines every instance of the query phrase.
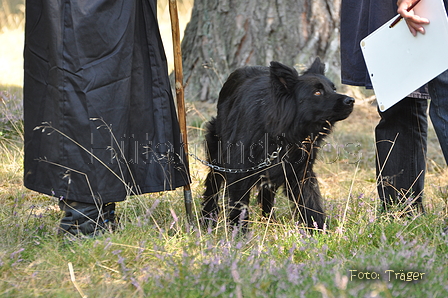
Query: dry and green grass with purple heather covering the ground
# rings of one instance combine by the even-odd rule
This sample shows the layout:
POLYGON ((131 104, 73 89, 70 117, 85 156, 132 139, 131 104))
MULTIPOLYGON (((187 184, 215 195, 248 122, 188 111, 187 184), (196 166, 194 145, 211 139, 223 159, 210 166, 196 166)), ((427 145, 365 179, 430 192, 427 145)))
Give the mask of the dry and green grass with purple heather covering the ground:
MULTIPOLYGON (((1 36, 1 35, 0 35, 1 36)), ((375 187, 375 106, 357 89, 355 111, 327 138, 316 172, 329 220, 309 235, 282 197, 277 221, 251 205, 246 237, 186 222, 182 190, 118 204, 118 230, 58 237, 57 200, 22 186, 20 83, 0 86, 0 297, 447 297, 448 171, 432 128, 425 207, 383 218, 375 187), (393 272, 392 272, 393 271, 393 272), (370 278, 370 279, 368 279, 370 278), (404 280, 403 280, 404 279, 404 280)), ((203 157, 214 105, 187 103, 190 152, 203 157)), ((195 219, 206 167, 192 161, 195 219)))

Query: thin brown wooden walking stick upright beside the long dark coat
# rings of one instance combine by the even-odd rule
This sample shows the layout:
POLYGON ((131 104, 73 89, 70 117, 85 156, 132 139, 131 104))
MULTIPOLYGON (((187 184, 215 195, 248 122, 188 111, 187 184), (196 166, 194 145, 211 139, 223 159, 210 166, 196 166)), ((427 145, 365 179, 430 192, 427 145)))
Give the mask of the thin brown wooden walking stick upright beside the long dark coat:
MULTIPOLYGON (((182 133, 182 139, 184 142, 185 150, 185 166, 189 171, 188 162, 188 138, 187 138, 187 120, 185 113, 185 100, 184 100, 184 85, 182 74, 182 50, 180 47, 180 29, 179 29, 179 16, 177 14, 177 0, 169 0, 169 10, 171 19, 171 32, 173 35, 173 54, 174 54, 174 77, 176 87, 176 101, 177 101, 177 117, 179 118, 180 131, 182 133)), ((187 212, 188 222, 193 223, 191 187, 188 184, 184 186, 184 200, 185 210, 187 212)))

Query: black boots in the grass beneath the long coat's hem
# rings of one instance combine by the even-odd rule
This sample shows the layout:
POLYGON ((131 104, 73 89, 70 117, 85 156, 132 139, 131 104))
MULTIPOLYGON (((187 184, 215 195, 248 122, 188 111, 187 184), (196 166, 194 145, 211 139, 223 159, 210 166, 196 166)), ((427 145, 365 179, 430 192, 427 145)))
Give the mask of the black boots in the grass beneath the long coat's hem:
POLYGON ((62 200, 59 207, 65 212, 60 224, 60 233, 96 236, 115 227, 115 203, 97 206, 62 200))

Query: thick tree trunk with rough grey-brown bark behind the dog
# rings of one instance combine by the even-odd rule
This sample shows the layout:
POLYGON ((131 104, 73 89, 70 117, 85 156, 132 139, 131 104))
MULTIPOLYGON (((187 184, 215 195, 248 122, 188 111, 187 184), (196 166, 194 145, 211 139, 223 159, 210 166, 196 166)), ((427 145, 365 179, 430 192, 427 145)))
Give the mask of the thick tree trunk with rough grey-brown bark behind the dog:
POLYGON ((273 60, 300 71, 320 56, 335 80, 340 2, 195 0, 182 41, 186 98, 215 101, 233 70, 273 60))

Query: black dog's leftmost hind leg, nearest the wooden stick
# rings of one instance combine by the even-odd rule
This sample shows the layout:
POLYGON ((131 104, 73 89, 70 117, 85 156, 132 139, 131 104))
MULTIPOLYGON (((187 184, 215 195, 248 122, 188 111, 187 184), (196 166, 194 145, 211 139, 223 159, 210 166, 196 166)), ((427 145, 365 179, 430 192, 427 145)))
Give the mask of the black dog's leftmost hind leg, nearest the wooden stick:
POLYGON ((205 191, 202 195, 202 224, 205 226, 214 226, 218 221, 219 208, 219 191, 224 182, 224 177, 220 173, 213 170, 207 175, 205 180, 205 191))

